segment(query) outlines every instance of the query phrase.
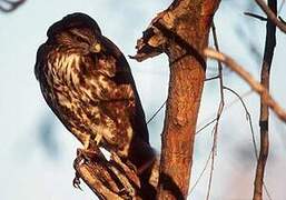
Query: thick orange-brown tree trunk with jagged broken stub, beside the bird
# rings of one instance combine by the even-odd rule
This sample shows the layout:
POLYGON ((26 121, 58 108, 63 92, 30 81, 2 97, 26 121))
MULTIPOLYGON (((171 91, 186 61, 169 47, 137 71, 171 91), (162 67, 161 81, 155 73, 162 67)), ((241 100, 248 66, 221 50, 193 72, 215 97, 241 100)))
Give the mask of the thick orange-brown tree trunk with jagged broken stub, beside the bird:
POLYGON ((175 0, 160 12, 138 40, 138 61, 167 53, 169 91, 158 199, 186 199, 193 162, 194 138, 205 80, 203 51, 208 44, 213 16, 219 0, 175 0))

